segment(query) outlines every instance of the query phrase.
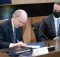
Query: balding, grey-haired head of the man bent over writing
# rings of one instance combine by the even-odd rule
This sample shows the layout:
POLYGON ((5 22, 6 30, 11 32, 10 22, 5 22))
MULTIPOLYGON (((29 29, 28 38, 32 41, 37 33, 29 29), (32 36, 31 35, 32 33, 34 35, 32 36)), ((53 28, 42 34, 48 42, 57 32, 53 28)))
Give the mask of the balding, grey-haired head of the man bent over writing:
POLYGON ((15 27, 23 26, 27 22, 27 13, 25 10, 19 9, 13 13, 13 23, 15 27))

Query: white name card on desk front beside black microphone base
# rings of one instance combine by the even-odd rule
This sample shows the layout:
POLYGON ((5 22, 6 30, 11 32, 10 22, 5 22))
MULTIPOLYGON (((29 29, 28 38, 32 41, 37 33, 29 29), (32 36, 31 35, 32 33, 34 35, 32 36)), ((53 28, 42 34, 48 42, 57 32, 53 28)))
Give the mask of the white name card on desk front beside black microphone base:
POLYGON ((47 47, 33 49, 32 56, 40 56, 43 54, 48 54, 48 48, 47 47))

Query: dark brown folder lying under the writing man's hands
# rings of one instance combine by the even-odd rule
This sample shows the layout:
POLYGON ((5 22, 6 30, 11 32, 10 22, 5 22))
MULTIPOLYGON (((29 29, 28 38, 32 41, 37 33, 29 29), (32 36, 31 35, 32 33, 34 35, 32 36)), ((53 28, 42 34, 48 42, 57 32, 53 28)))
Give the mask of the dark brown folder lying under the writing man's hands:
POLYGON ((6 52, 9 54, 21 54, 24 52, 30 52, 32 49, 28 48, 28 47, 12 47, 12 48, 5 48, 5 49, 1 49, 0 52, 6 52))

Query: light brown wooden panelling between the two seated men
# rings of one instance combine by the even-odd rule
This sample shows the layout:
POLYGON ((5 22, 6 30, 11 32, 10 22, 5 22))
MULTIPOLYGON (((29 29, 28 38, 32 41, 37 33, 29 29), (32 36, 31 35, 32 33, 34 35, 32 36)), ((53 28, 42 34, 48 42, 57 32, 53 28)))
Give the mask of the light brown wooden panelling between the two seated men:
POLYGON ((35 33, 33 31, 31 24, 40 22, 44 18, 46 18, 46 16, 29 17, 29 20, 26 23, 25 32, 23 35, 23 39, 25 43, 36 42, 35 33))

